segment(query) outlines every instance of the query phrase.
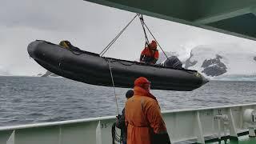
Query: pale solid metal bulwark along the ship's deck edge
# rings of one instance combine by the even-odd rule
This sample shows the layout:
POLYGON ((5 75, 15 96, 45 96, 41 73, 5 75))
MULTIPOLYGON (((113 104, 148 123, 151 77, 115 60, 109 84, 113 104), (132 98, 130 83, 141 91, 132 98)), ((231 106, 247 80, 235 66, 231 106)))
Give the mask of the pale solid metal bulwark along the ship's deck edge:
MULTIPOLYGON (((171 142, 205 143, 207 138, 225 135, 238 138, 245 130, 253 136, 255 110, 256 103, 162 114, 171 142)), ((111 144, 113 122, 115 116, 0 127, 0 144, 111 144)))

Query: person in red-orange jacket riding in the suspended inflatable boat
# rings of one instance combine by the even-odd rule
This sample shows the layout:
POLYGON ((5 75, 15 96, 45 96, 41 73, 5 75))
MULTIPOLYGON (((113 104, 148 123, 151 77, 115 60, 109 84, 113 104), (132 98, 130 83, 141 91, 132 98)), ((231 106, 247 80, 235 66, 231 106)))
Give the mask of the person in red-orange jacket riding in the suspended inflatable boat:
POLYGON ((159 57, 157 46, 157 42, 152 40, 150 46, 147 46, 144 48, 144 50, 142 50, 141 57, 139 58, 140 62, 154 65, 158 61, 159 57))

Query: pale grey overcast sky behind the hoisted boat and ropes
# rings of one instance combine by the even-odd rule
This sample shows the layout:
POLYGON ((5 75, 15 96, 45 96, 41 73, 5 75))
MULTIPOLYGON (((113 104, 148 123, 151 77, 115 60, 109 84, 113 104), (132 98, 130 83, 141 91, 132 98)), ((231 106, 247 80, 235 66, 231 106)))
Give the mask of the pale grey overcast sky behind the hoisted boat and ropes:
MULTIPOLYGON (((134 13, 82 0, 1 0, 0 74, 36 75, 44 70, 29 58, 26 46, 36 39, 58 43, 69 40, 82 50, 101 50, 134 17, 134 13)), ((198 45, 238 44, 252 50, 256 42, 145 16, 155 38, 166 51, 186 58, 198 45)), ((150 38, 151 39, 151 38, 150 38)), ((136 60, 144 46, 142 26, 136 19, 106 56, 136 60)))

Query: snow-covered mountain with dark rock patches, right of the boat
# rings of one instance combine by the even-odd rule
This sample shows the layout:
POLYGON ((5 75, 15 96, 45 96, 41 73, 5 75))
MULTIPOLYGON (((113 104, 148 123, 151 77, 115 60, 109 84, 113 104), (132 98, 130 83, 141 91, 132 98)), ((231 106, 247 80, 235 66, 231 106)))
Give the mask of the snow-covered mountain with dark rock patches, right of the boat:
POLYGON ((196 46, 185 68, 198 70, 206 77, 250 75, 256 77, 256 50, 238 45, 196 46))

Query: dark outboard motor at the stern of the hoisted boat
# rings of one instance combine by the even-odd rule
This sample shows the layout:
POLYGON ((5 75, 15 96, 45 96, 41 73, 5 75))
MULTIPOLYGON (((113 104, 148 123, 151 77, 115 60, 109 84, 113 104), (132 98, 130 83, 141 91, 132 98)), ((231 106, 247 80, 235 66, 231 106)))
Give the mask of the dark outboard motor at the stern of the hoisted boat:
POLYGON ((170 67, 173 69, 182 69, 182 62, 176 56, 171 56, 163 62, 162 66, 170 67))

